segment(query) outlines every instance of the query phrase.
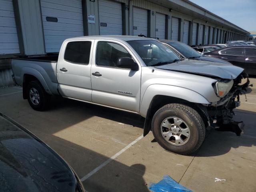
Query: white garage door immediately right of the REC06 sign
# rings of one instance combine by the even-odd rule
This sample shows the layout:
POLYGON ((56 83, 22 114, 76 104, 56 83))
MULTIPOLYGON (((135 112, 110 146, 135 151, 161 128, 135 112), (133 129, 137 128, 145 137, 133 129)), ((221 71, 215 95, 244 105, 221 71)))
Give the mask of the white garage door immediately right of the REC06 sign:
POLYGON ((100 35, 122 35, 122 6, 118 2, 99 0, 100 35))

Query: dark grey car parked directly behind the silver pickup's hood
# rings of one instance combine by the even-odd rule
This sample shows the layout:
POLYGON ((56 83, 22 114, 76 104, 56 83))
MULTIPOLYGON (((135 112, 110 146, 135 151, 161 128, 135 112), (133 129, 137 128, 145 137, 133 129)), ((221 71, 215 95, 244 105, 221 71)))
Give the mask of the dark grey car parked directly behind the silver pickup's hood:
POLYGON ((171 48, 178 56, 182 59, 193 59, 193 60, 201 60, 201 61, 210 61, 210 62, 216 62, 216 63, 225 63, 230 64, 227 61, 209 57, 209 56, 202 56, 200 53, 198 53, 196 50, 188 46, 187 44, 184 44, 179 41, 174 40, 159 40, 169 48, 171 48))

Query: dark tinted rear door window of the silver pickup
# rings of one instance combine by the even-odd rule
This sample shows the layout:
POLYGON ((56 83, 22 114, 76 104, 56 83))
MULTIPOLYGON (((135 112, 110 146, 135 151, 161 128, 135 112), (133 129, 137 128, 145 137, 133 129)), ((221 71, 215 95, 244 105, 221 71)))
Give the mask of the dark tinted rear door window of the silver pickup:
POLYGON ((76 64, 88 65, 91 45, 92 42, 90 41, 69 42, 65 50, 64 60, 76 64))

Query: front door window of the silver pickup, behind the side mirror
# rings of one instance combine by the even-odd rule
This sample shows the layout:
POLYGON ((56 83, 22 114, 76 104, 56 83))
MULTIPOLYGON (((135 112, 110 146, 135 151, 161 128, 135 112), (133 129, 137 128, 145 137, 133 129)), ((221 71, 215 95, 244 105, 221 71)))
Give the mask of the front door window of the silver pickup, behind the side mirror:
POLYGON ((111 42, 98 42, 96 65, 116 67, 121 57, 130 57, 130 53, 121 45, 111 42))

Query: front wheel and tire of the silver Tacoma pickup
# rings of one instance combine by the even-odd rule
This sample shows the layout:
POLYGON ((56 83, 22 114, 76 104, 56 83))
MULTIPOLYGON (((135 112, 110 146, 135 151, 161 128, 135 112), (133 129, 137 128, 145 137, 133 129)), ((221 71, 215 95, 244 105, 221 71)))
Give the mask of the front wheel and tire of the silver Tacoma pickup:
POLYGON ((152 118, 152 131, 162 148, 182 155, 198 150, 205 137, 202 117, 183 104, 168 104, 160 108, 152 118))

